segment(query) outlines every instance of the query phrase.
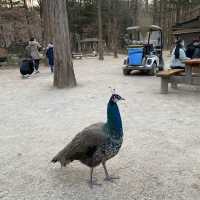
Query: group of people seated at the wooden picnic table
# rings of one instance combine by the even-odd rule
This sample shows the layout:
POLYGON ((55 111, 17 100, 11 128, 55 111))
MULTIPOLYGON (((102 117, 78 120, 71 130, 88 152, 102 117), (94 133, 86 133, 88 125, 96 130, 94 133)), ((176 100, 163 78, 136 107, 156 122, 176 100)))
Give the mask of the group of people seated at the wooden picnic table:
POLYGON ((184 61, 194 58, 200 58, 200 37, 194 38, 187 48, 185 48, 184 40, 178 39, 172 51, 171 68, 185 69, 184 61))

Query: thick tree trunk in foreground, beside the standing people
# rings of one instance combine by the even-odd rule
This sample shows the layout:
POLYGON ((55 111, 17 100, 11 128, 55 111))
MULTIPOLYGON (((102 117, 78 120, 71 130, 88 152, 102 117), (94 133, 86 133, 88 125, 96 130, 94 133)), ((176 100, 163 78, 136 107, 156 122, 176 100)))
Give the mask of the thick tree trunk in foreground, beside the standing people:
POLYGON ((58 88, 76 86, 70 48, 68 15, 65 0, 46 0, 43 7, 49 18, 50 29, 53 33, 55 70, 54 86, 58 88))

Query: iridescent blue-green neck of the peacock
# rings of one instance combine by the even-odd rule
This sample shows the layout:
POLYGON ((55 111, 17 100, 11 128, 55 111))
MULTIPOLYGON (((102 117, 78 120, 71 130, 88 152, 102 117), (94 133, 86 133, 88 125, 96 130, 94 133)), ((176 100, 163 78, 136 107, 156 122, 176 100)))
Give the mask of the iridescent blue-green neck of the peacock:
POLYGON ((123 136, 122 120, 116 103, 109 101, 107 107, 107 126, 111 137, 120 139, 123 136))

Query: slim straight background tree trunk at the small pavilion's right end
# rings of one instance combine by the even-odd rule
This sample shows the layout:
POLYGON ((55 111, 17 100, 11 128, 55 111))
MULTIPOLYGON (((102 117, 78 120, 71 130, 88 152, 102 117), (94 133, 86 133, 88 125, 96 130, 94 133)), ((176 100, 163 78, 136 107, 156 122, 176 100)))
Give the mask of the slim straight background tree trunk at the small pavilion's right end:
POLYGON ((102 15, 101 15, 101 1, 97 0, 98 10, 98 29, 99 29, 99 60, 104 60, 103 56, 103 34, 102 34, 102 15))

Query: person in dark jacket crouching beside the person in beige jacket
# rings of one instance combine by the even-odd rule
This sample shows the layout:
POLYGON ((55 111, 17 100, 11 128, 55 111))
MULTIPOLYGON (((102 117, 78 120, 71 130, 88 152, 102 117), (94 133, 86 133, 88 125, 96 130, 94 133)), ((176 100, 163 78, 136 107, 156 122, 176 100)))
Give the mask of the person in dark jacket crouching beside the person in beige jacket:
POLYGON ((34 71, 34 63, 31 59, 24 59, 20 65, 20 73, 23 78, 29 78, 34 71))

